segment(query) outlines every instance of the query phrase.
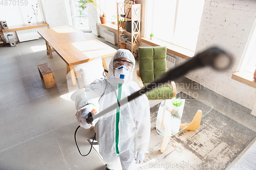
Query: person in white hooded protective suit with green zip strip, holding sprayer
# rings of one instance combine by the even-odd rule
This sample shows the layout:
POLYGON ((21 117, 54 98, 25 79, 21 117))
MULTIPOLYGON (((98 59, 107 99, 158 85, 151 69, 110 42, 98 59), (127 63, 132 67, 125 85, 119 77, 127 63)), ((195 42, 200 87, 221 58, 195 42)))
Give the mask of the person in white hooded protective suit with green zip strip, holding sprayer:
POLYGON ((114 169, 118 158, 122 169, 137 169, 136 163, 142 163, 150 140, 150 106, 145 94, 99 117, 91 125, 86 122, 92 109, 99 113, 139 90, 132 81, 134 66, 132 53, 119 49, 110 62, 108 76, 91 83, 85 94, 76 98, 78 123, 83 128, 95 125, 99 153, 107 164, 105 169, 114 169))

